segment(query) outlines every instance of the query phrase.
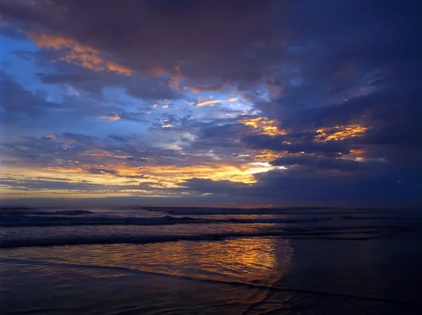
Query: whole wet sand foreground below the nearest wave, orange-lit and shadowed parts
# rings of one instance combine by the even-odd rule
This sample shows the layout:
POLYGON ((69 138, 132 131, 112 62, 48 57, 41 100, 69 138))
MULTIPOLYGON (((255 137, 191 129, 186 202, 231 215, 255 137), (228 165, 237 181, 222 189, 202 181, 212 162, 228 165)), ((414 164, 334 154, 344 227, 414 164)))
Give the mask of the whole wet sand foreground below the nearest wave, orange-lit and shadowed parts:
POLYGON ((421 273, 406 265, 421 257, 406 246, 415 240, 1 250, 0 303, 6 314, 420 314, 414 289, 421 273))

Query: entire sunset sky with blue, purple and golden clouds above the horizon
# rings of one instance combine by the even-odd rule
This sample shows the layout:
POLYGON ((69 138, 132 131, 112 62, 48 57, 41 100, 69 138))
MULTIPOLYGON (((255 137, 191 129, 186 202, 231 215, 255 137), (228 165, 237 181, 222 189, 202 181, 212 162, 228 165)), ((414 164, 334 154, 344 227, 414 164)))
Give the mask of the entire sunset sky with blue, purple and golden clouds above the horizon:
POLYGON ((421 7, 0 0, 3 201, 422 201, 421 7))

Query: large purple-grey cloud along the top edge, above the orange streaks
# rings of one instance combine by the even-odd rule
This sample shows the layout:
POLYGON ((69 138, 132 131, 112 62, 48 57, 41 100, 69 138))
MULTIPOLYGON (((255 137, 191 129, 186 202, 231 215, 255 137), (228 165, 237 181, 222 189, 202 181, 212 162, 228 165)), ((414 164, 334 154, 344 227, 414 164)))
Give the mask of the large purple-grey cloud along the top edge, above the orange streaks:
POLYGON ((115 1, 6 1, 1 10, 20 29, 94 47, 140 74, 165 71, 198 78, 224 73, 228 79, 255 79, 260 76, 258 56, 238 53, 271 37, 267 19, 274 13, 274 1, 235 0, 224 6, 184 0, 127 1, 124 6, 115 1), (243 70, 247 64, 255 68, 249 74, 243 70))

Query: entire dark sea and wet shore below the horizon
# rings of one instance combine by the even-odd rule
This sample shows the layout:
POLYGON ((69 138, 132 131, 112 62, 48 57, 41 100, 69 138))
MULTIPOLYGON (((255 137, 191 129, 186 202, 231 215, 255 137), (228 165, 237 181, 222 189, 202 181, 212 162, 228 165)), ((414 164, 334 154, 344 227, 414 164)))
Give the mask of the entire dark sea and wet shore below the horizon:
POLYGON ((422 210, 0 208, 1 314, 422 314, 422 210))

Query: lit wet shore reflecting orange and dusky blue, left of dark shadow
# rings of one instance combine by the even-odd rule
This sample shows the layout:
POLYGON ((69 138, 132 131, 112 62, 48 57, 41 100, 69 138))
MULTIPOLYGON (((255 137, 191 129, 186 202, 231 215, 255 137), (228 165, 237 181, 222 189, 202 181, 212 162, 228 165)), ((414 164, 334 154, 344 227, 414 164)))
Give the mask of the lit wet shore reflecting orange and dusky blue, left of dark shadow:
POLYGON ((0 274, 13 311, 241 314, 269 290, 235 284, 271 286, 292 257, 290 241, 264 238, 17 248, 2 250, 0 274))

